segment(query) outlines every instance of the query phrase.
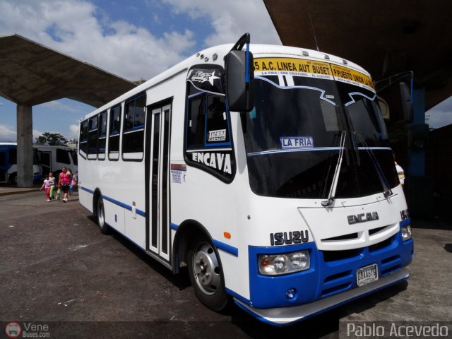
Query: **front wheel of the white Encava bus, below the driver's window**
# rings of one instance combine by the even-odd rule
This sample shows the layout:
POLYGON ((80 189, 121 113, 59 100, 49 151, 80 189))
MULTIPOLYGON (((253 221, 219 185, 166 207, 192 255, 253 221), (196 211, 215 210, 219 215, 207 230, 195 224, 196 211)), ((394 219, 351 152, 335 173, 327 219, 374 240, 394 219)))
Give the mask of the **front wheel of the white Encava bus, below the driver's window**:
POLYGON ((222 268, 213 244, 205 237, 196 237, 188 252, 189 277, 196 297, 213 311, 227 307, 222 268))

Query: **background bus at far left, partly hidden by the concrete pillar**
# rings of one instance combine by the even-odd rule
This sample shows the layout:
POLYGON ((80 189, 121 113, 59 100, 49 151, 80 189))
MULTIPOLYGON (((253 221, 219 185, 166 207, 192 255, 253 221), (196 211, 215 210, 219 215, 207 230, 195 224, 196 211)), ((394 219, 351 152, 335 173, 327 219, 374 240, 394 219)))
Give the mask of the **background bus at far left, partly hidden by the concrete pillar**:
MULTIPOLYGON (((42 179, 42 167, 33 152, 33 181, 42 179)), ((17 185, 17 143, 0 143, 0 184, 17 185)))

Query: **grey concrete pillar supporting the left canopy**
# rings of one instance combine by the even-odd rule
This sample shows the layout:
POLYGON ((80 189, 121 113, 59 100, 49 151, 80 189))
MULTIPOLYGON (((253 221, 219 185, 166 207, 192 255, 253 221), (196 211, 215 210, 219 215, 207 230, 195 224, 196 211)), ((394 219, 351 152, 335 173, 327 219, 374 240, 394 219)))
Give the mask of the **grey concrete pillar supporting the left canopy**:
POLYGON ((17 105, 17 186, 33 186, 32 108, 17 105))

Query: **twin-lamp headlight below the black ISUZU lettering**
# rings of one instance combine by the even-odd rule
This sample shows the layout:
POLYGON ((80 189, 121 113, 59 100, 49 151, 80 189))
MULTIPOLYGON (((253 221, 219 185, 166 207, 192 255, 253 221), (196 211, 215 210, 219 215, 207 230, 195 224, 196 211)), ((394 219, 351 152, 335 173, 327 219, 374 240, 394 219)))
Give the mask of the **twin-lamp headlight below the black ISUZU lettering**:
POLYGON ((285 254, 260 254, 258 256, 259 273, 278 275, 307 270, 311 266, 308 251, 285 254))

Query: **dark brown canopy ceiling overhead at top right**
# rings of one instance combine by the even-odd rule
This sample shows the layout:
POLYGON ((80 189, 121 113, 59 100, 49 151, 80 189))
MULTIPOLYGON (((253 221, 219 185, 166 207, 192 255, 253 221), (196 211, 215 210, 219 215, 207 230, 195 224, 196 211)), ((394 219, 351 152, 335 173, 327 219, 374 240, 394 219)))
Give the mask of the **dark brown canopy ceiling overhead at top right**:
POLYGON ((426 90, 425 109, 452 95, 450 0, 263 2, 287 46, 318 45, 363 66, 374 81, 414 71, 415 85, 426 90))

